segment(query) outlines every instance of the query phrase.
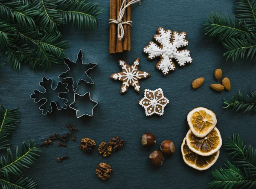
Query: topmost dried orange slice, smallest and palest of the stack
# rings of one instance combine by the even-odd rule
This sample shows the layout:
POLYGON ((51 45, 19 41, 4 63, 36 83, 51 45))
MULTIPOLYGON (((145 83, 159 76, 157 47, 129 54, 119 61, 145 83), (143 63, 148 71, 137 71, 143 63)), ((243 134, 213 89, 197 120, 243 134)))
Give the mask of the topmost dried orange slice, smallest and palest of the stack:
POLYGON ((205 137, 217 124, 215 113, 203 107, 190 111, 187 121, 192 133, 197 137, 205 137))

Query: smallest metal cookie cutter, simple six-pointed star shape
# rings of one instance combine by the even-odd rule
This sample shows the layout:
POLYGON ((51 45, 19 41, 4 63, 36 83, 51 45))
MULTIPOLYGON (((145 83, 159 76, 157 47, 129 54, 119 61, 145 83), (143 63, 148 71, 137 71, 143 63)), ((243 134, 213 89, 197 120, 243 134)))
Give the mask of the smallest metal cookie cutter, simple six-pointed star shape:
POLYGON ((74 102, 72 102, 69 107, 76 110, 76 117, 79 118, 84 115, 93 116, 93 109, 97 104, 98 102, 91 99, 90 92, 84 95, 74 93, 74 102), (91 105, 93 108, 88 108, 88 105, 91 105))

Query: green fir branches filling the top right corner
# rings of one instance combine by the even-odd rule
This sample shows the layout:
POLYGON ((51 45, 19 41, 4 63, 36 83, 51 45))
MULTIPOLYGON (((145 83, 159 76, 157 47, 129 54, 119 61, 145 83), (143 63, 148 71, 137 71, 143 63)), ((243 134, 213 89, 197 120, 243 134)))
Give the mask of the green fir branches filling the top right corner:
POLYGON ((212 12, 208 16, 205 34, 210 40, 218 38, 227 52, 223 55, 233 62, 238 59, 256 61, 256 1, 235 0, 236 14, 231 19, 229 15, 212 12))

